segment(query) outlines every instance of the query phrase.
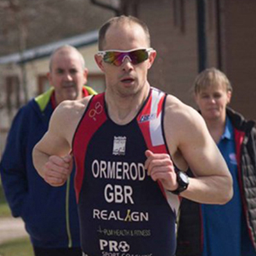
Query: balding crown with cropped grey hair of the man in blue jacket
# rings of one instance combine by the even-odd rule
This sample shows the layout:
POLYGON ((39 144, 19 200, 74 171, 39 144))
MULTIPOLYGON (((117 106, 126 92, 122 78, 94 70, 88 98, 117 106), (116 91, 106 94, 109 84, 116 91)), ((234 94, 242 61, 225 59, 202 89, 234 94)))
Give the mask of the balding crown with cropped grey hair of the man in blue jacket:
POLYGON ((61 47, 58 47, 54 52, 52 52, 51 54, 51 58, 50 58, 50 62, 49 62, 49 70, 50 72, 52 72, 52 63, 55 59, 56 55, 70 55, 70 54, 74 54, 75 56, 77 56, 79 58, 79 61, 81 62, 81 68, 84 69, 85 68, 85 61, 84 58, 82 56, 82 54, 77 51, 77 49, 71 45, 63 45, 61 47))

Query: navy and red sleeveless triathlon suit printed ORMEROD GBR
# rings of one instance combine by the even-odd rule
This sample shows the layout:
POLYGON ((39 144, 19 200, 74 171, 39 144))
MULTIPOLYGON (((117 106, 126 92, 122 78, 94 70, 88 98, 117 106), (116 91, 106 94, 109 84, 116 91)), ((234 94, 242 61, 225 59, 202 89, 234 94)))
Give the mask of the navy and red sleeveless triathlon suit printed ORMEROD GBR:
POLYGON ((76 196, 85 256, 173 256, 179 197, 154 182, 145 151, 168 153, 163 134, 166 94, 150 89, 129 124, 109 118, 95 95, 73 140, 76 196))

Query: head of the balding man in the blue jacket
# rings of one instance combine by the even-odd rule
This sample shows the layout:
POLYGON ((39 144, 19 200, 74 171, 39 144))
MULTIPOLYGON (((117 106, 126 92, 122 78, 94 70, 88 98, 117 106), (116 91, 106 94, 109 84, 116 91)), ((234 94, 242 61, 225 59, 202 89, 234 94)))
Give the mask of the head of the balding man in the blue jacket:
POLYGON ((62 49, 52 58, 51 72, 47 74, 55 89, 56 103, 82 98, 83 85, 87 83, 88 70, 83 68, 76 51, 62 49))

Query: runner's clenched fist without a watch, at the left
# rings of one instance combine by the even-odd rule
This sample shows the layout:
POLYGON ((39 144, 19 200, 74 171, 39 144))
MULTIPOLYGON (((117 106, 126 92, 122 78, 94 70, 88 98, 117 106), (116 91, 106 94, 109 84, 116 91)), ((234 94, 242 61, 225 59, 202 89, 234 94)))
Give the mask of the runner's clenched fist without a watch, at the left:
POLYGON ((44 165, 44 180, 51 186, 62 186, 72 172, 72 156, 51 156, 44 165))

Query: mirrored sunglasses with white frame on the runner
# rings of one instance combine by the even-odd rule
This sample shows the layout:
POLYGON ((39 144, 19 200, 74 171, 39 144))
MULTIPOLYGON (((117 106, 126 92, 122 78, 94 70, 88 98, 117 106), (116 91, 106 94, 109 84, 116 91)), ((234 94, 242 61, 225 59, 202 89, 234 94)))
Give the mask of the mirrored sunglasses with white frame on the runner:
POLYGON ((129 51, 119 51, 119 50, 107 50, 99 51, 97 54, 102 56, 104 62, 115 65, 119 67, 124 62, 125 58, 128 58, 133 65, 137 65, 148 59, 152 48, 147 49, 133 49, 129 51))

